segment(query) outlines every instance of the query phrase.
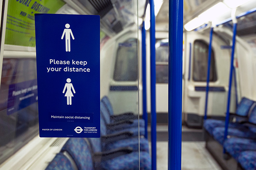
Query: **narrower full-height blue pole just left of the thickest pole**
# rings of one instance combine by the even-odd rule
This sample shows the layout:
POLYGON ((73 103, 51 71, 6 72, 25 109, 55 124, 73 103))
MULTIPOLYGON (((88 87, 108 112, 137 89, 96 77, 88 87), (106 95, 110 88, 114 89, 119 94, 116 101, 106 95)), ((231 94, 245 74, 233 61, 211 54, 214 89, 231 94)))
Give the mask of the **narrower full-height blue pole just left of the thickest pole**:
POLYGON ((156 37, 154 0, 150 4, 150 72, 151 72, 151 156, 152 170, 157 169, 157 113, 156 113, 156 37))

